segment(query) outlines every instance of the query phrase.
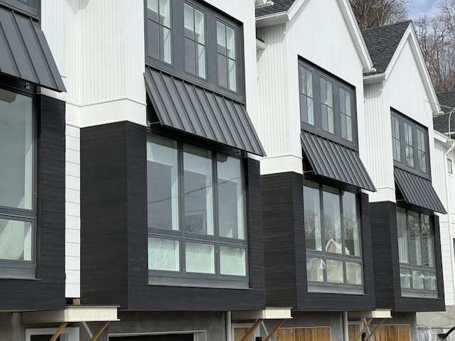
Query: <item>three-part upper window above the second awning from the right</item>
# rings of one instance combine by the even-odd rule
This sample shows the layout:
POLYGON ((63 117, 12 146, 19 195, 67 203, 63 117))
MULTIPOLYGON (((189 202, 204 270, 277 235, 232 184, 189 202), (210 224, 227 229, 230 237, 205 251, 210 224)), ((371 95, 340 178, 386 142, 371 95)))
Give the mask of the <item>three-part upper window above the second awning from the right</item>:
POLYGON ((355 89, 352 86, 301 62, 299 94, 303 129, 356 146, 355 89))

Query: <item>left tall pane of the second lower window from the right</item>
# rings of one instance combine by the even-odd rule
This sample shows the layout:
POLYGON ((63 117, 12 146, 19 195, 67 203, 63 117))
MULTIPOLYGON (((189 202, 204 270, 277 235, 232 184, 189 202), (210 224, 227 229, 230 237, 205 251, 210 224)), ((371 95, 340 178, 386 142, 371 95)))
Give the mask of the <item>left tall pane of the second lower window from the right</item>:
POLYGON ((319 185, 304 181, 304 215, 306 249, 322 251, 319 185))

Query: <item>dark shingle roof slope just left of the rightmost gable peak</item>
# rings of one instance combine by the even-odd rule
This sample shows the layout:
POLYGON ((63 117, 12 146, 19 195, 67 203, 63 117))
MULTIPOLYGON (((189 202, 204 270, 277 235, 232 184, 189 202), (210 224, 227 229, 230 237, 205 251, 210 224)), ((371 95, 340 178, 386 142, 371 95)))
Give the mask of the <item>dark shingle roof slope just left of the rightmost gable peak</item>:
POLYGON ((368 72, 365 75, 383 73, 387 70, 410 23, 411 21, 408 20, 362 31, 363 39, 376 69, 376 72, 368 72))

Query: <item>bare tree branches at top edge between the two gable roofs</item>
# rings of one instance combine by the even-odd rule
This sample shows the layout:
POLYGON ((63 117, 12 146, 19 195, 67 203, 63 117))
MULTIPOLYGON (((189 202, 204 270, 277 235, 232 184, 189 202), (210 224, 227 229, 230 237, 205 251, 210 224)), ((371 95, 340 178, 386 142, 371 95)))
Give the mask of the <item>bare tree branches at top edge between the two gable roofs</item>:
POLYGON ((349 0, 360 29, 397 23, 407 18, 410 0, 349 0))

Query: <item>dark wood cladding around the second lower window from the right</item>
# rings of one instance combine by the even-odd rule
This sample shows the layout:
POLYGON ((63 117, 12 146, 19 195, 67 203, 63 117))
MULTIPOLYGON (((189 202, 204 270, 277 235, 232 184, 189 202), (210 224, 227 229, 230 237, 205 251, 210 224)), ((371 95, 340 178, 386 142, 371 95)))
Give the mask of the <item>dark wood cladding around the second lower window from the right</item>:
POLYGON ((368 195, 360 195, 365 294, 308 293, 302 175, 262 175, 261 184, 267 305, 291 306, 294 310, 373 309, 368 195))

